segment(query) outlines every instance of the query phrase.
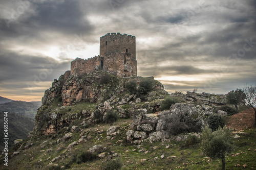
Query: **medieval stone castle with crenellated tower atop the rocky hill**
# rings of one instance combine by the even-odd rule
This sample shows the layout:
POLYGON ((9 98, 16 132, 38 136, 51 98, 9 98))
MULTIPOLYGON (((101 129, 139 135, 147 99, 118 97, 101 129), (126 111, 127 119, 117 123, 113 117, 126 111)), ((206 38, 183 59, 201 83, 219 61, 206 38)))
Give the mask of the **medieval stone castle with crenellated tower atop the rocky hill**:
POLYGON ((95 70, 116 72, 119 77, 137 76, 136 38, 132 35, 108 33, 100 37, 100 55, 71 62, 71 75, 95 70))

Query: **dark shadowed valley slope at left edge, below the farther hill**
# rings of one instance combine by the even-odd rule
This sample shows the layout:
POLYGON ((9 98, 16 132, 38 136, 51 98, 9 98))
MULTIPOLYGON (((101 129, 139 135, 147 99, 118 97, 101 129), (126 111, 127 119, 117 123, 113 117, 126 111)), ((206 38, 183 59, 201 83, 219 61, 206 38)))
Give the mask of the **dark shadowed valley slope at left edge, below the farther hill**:
MULTIPOLYGON (((28 133, 33 130, 34 121, 28 117, 15 113, 8 113, 8 138, 9 149, 13 146, 14 140, 26 139, 28 133)), ((0 112, 0 129, 4 133, 4 112, 0 112)), ((0 138, 0 151, 3 150, 3 138, 0 138)))

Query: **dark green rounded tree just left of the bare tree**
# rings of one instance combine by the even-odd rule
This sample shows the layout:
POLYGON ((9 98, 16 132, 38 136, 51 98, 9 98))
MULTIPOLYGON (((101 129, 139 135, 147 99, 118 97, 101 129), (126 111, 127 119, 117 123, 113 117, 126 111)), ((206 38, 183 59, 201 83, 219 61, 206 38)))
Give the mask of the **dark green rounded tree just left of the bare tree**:
POLYGON ((239 104, 245 104, 246 95, 242 89, 236 89, 236 91, 229 91, 227 94, 227 103, 230 105, 234 105, 238 110, 239 104))

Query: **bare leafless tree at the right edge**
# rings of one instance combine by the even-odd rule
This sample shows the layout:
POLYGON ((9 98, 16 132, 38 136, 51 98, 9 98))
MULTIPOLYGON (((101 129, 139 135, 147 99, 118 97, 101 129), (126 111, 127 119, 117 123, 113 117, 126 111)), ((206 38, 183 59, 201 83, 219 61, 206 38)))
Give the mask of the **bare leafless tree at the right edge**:
POLYGON ((254 110, 254 120, 256 125, 256 84, 248 85, 243 88, 243 91, 246 95, 245 101, 246 103, 253 108, 254 110))

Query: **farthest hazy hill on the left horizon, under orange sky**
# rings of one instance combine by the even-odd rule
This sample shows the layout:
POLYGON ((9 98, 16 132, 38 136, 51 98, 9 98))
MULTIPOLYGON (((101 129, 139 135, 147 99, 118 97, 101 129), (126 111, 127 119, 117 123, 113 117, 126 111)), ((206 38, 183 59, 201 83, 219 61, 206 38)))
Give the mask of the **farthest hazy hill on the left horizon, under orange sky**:
POLYGON ((0 104, 0 111, 17 113, 34 120, 37 108, 41 106, 41 102, 22 102, 13 101, 9 103, 0 104))

